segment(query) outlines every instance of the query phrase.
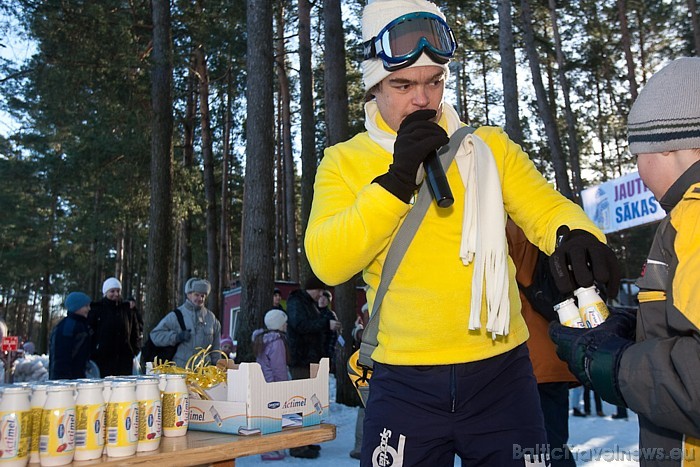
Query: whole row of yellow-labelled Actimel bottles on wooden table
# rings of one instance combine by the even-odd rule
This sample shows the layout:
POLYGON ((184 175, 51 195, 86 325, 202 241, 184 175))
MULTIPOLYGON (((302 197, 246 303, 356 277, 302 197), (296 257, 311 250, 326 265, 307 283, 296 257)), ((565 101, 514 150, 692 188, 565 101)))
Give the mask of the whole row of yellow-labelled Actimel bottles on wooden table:
POLYGON ((0 387, 0 467, 56 466, 153 451, 187 433, 185 375, 56 380, 0 387))

